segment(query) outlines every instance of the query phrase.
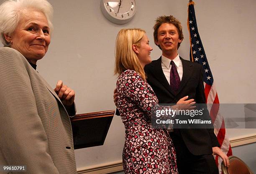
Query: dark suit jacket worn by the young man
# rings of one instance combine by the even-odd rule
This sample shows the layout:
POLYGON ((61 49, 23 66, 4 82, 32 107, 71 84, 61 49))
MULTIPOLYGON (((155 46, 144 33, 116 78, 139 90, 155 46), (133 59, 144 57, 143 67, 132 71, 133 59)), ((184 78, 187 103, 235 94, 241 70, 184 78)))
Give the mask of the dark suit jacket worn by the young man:
MULTIPOLYGON (((147 81, 156 93, 159 103, 177 103, 184 96, 189 96, 188 99, 194 98, 196 103, 205 103, 202 66, 181 57, 180 59, 183 75, 177 92, 172 90, 164 76, 161 57, 144 68, 147 81)), ((213 129, 179 129, 179 133, 187 149, 194 155, 212 154, 212 147, 219 146, 213 129)))

